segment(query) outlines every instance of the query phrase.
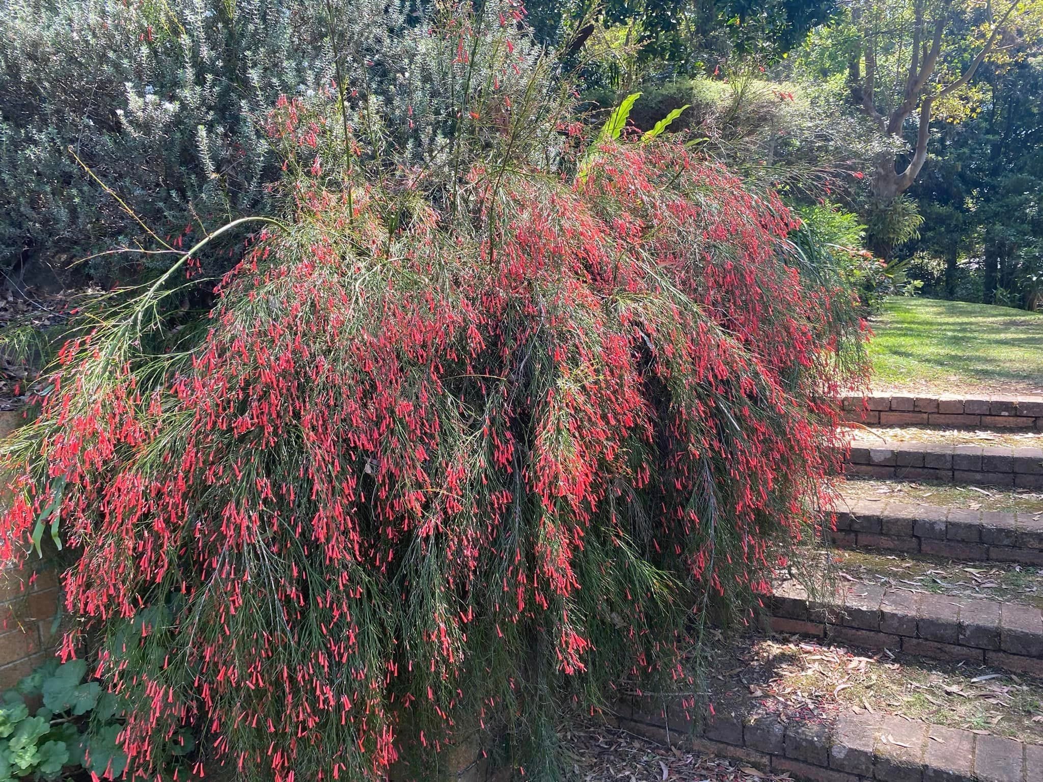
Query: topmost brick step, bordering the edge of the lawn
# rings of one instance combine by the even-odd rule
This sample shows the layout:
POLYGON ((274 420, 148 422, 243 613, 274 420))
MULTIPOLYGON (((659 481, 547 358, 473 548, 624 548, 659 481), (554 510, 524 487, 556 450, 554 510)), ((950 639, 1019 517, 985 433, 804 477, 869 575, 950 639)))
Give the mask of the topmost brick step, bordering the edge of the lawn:
POLYGON ((1043 432, 1043 396, 871 394, 841 399, 849 421, 881 426, 987 426, 1043 432))

